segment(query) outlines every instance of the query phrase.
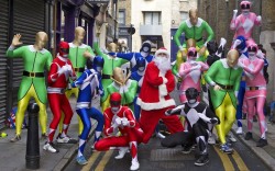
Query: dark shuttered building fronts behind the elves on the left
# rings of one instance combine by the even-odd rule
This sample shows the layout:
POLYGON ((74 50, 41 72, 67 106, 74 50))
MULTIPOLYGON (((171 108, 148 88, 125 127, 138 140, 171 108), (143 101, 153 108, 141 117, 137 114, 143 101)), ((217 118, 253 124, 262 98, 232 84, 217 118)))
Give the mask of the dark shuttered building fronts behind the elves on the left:
MULTIPOLYGON (((75 27, 82 26, 87 33, 85 43, 92 46, 95 18, 98 15, 101 4, 109 2, 110 0, 100 0, 100 3, 97 0, 1 0, 0 129, 6 126, 11 109, 16 106, 23 72, 21 58, 8 59, 6 57, 13 35, 20 33, 23 45, 32 45, 37 32, 46 32, 48 44, 45 48, 55 57, 56 45, 62 39, 74 41, 75 27)), ((117 0, 112 0, 112 3, 114 2, 117 0)))

